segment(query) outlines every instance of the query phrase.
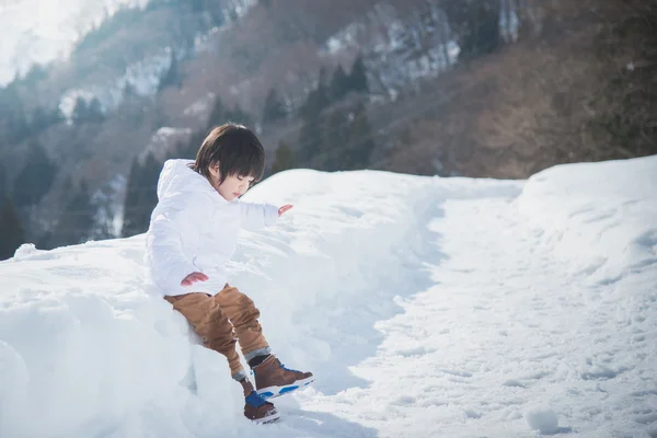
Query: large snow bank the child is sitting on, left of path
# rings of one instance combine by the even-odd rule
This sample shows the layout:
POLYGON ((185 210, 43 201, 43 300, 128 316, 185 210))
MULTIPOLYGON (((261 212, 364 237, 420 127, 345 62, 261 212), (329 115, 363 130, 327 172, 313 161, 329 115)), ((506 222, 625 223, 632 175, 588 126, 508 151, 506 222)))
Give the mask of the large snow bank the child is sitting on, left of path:
MULTIPOLYGON (((297 206, 275 228, 244 232, 231 283, 255 300, 283 361, 322 372, 327 392, 342 376, 332 378, 326 360, 354 354, 355 333, 367 344, 362 333, 397 309, 395 288, 413 281, 397 267, 422 246, 427 206, 413 193, 425 183, 295 171, 246 196, 297 206)), ((24 245, 0 263, 0 436, 240 436, 254 427, 241 417, 226 359, 145 290, 142 247, 141 235, 24 245)))

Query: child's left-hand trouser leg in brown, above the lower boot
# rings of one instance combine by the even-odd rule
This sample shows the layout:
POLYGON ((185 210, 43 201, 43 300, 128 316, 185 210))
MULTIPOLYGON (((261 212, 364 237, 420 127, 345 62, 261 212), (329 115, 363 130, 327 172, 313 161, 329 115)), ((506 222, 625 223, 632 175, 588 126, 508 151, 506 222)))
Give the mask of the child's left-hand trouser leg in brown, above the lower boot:
POLYGON ((192 324, 194 331, 203 338, 204 346, 226 356, 232 378, 237 381, 243 380, 246 372, 235 349, 233 326, 216 300, 206 293, 164 298, 192 324))

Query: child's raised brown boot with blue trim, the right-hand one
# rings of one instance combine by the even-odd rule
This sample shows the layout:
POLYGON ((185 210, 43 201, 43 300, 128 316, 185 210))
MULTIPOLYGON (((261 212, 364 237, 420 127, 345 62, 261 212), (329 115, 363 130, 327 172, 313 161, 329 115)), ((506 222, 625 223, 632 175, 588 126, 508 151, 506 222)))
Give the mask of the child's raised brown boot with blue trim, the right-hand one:
POLYGON ((287 394, 314 381, 311 372, 285 368, 280 360, 269 355, 261 365, 253 368, 255 387, 263 399, 287 394))

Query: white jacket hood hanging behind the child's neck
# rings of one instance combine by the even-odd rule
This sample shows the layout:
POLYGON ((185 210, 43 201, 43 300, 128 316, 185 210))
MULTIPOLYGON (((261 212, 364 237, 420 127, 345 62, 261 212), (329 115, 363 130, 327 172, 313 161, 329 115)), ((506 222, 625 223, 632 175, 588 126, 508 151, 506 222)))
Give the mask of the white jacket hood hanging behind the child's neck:
POLYGON ((158 181, 158 199, 188 192, 217 194, 205 176, 188 166, 191 163, 194 163, 194 160, 176 159, 164 162, 158 181))

